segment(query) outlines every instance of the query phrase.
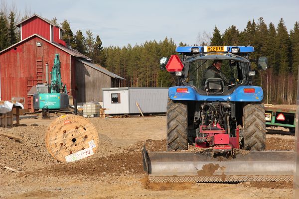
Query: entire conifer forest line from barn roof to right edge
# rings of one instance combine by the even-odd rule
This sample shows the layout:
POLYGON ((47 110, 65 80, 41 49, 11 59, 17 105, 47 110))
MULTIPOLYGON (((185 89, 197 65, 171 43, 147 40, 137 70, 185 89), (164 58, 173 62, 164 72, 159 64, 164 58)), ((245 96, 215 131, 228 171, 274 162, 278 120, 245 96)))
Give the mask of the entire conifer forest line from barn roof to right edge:
MULTIPOLYGON (((67 30, 66 27, 64 28, 67 30)), ((78 30, 76 35, 81 35, 81 33, 78 30)), ((78 41, 76 36, 71 45, 79 52, 91 57, 95 63, 124 77, 127 80, 126 86, 169 87, 175 85, 176 78, 168 72, 160 71, 158 64, 161 57, 175 54, 177 45, 171 38, 166 37, 159 42, 155 40, 146 41, 135 46, 128 44, 123 47, 109 46, 99 49, 96 46, 101 45, 97 45, 99 44, 97 39, 90 39, 90 35, 92 35, 90 30, 86 32, 86 35, 86 38, 80 36, 85 45, 85 48, 82 49, 85 50, 76 47, 76 41, 78 41), (89 45, 91 43, 93 45, 89 45)), ((272 22, 266 24, 264 19, 260 17, 257 21, 249 20, 243 31, 231 25, 221 34, 215 26, 212 34, 205 33, 203 35, 206 37, 201 39, 203 42, 191 45, 254 46, 255 52, 250 54, 250 59, 257 60, 259 57, 267 57, 270 66, 266 71, 258 71, 256 62, 251 63, 252 70, 256 71, 253 84, 263 87, 264 101, 266 103, 296 103, 299 68, 299 22, 296 22, 294 28, 288 31, 283 18, 275 26, 272 22)), ((72 38, 71 35, 65 36, 72 38)), ((186 46, 186 44, 180 42, 178 46, 186 46)))

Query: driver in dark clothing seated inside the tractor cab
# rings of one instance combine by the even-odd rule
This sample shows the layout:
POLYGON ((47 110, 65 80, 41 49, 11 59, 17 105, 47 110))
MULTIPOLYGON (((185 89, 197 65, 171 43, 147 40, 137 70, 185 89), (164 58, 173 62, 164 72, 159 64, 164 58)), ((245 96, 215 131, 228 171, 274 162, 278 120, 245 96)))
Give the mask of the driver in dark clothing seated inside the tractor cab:
POLYGON ((221 78, 224 85, 229 85, 229 79, 221 71, 222 60, 214 60, 213 64, 203 72, 202 86, 209 78, 221 78))

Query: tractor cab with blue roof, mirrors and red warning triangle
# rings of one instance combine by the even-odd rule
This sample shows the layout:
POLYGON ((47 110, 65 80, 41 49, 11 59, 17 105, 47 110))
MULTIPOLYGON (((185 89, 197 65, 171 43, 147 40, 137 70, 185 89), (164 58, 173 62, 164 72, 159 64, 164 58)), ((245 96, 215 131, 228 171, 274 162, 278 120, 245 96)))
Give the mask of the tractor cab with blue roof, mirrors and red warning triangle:
MULTIPOLYGON (((162 58, 160 67, 175 72, 177 86, 191 86, 200 95, 229 95, 239 86, 251 85, 249 53, 252 46, 186 46, 177 47, 169 60, 162 58), (220 67, 215 61, 221 62, 220 67)), ((259 60, 260 68, 267 68, 267 58, 259 60)), ((218 64, 219 65, 219 64, 218 64)))

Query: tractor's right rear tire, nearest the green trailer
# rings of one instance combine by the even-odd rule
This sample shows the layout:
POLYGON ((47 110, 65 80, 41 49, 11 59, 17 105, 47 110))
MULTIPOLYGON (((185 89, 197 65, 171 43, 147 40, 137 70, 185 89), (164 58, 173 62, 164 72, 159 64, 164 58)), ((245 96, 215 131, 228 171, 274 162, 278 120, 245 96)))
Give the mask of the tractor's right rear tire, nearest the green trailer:
POLYGON ((264 103, 250 103, 243 107, 244 149, 263 151, 266 149, 266 121, 264 103))

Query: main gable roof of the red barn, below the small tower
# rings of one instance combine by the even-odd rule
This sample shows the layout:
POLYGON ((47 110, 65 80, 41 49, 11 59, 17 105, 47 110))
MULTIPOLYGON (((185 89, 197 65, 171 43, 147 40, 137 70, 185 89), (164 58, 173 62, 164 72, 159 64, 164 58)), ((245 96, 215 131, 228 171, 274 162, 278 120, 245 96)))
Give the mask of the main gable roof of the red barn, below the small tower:
POLYGON ((66 53, 68 53, 68 54, 70 54, 70 55, 72 55, 72 56, 74 56, 74 57, 83 58, 83 59, 86 59, 86 60, 88 60, 88 61, 91 61, 91 59, 90 59, 89 57, 83 55, 82 53, 79 53, 79 52, 76 51, 75 49, 67 48, 67 47, 62 46, 62 45, 59 45, 59 44, 57 44, 57 43, 50 42, 49 40, 43 38, 42 36, 40 36, 40 35, 38 35, 38 34, 33 34, 33 35, 31 35, 31 36, 29 36, 29 37, 27 37, 27 38, 25 38, 25 39, 23 39, 23 40, 21 40, 21 41, 15 43, 15 44, 13 44, 12 46, 9 46, 8 48, 5 48, 4 50, 0 51, 0 54, 2 54, 4 51, 9 50, 10 48, 12 48, 12 47, 14 47, 14 46, 16 46, 16 45, 18 45, 18 44, 20 44, 20 43, 22 43, 22 42, 28 40, 28 39, 30 39, 30 38, 32 38, 32 37, 38 37, 38 38, 40 38, 40 39, 42 39, 42 40, 48 42, 49 44, 51 44, 51 45, 53 45, 53 46, 59 48, 60 50, 63 50, 64 52, 66 52, 66 53))

